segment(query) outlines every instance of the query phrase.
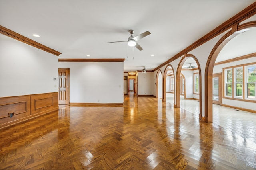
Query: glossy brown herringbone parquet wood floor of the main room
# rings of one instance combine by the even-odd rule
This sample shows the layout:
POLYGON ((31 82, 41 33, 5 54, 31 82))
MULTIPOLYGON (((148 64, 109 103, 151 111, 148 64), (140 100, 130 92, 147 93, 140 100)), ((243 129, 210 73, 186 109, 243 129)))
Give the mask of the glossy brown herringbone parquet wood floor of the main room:
POLYGON ((156 98, 66 106, 0 129, 0 169, 251 170, 256 143, 156 98))

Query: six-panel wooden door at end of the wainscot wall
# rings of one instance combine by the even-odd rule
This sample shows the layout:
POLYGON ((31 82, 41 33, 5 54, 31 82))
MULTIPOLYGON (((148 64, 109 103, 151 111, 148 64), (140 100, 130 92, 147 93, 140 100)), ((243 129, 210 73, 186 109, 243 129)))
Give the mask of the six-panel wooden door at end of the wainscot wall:
POLYGON ((69 104, 69 68, 59 68, 59 104, 69 104))

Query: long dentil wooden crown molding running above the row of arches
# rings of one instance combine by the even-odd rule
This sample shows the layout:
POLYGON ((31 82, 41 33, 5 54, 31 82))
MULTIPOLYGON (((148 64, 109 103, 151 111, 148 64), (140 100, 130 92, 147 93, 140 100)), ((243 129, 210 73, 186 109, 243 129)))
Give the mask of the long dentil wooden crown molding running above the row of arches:
POLYGON ((156 67, 153 71, 156 71, 160 69, 161 67, 165 66, 166 64, 178 59, 179 57, 182 57, 182 55, 186 55, 186 53, 192 51, 196 47, 199 47, 203 43, 206 43, 207 41, 213 39, 214 37, 220 35, 224 31, 228 29, 234 29, 237 27, 239 23, 241 23, 244 20, 247 20, 251 16, 256 14, 256 2, 230 18, 229 20, 222 23, 220 26, 216 27, 212 31, 210 31, 208 34, 204 35, 202 38, 198 39, 196 42, 185 48, 184 50, 180 51, 178 54, 174 55, 172 58, 167 60, 166 62, 162 63, 160 66, 156 67), (233 27, 234 26, 234 27, 233 27))

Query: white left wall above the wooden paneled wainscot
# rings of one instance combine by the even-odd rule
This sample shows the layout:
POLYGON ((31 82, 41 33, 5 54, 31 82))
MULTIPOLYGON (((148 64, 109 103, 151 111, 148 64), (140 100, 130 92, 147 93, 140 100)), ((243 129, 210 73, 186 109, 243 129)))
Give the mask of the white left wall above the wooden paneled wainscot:
POLYGON ((50 92, 58 92, 58 56, 0 34, 0 97, 50 92))

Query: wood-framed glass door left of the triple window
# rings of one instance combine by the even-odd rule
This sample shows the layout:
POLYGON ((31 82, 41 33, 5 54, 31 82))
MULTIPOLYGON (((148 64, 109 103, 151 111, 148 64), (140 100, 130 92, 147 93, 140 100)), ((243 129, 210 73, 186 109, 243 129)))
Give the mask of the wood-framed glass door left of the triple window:
POLYGON ((222 73, 212 75, 212 103, 222 105, 222 73))

